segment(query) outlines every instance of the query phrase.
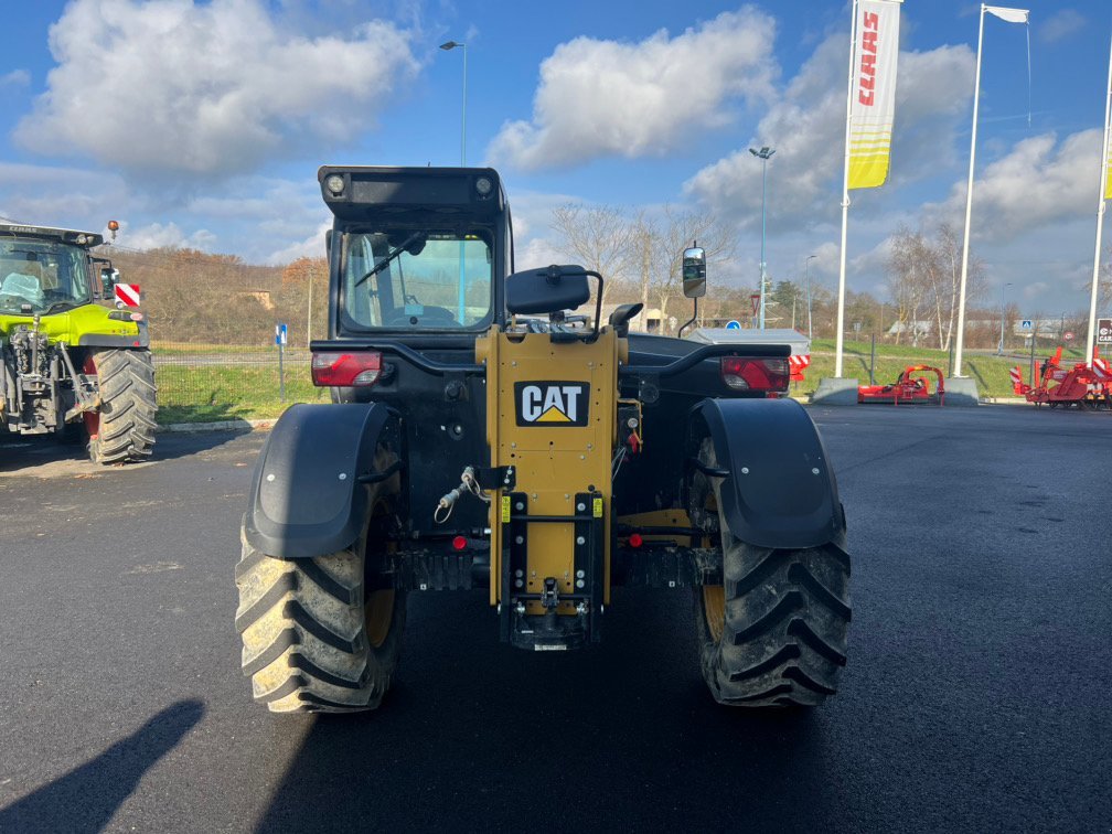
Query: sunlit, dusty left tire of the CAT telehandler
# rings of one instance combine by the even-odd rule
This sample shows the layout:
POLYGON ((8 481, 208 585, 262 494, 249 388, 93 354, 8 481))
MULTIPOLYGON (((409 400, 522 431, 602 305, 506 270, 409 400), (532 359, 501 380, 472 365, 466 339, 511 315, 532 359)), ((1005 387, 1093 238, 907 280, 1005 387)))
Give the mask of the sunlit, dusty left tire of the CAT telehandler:
POLYGON ((272 713, 375 709, 401 649, 406 594, 379 588, 365 533, 339 553, 279 559, 242 539, 241 666, 272 713))

